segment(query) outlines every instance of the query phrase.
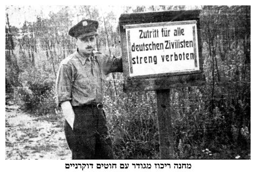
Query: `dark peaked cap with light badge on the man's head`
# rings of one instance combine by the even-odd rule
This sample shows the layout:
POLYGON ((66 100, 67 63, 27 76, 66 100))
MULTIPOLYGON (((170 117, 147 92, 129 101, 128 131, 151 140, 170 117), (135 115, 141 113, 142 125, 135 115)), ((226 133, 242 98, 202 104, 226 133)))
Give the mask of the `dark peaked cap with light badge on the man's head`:
POLYGON ((69 35, 75 38, 83 38, 85 36, 98 35, 99 23, 95 20, 85 19, 71 27, 69 35))

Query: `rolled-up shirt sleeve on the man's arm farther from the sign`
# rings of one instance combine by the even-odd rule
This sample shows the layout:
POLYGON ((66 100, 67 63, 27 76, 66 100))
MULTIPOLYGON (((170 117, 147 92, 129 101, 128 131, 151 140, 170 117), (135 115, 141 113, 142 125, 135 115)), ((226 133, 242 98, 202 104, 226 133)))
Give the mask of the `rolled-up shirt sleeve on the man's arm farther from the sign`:
POLYGON ((56 79, 56 103, 57 106, 63 101, 72 100, 72 66, 60 64, 56 79))

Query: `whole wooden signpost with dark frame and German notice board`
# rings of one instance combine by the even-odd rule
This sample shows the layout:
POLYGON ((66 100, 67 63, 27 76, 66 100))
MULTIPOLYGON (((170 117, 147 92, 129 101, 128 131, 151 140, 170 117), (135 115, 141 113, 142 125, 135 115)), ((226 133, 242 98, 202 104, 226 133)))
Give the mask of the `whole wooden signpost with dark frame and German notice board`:
POLYGON ((200 10, 123 14, 124 91, 156 91, 161 159, 174 158, 170 88, 203 85, 200 10))

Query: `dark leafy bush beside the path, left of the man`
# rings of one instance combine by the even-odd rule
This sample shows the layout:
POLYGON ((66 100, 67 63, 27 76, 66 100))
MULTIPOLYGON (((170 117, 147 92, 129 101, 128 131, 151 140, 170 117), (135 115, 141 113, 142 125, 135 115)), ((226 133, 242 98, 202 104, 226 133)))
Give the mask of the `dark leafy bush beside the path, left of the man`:
POLYGON ((24 111, 45 115, 55 112, 54 78, 49 73, 25 71, 19 75, 22 87, 16 88, 15 99, 24 111))

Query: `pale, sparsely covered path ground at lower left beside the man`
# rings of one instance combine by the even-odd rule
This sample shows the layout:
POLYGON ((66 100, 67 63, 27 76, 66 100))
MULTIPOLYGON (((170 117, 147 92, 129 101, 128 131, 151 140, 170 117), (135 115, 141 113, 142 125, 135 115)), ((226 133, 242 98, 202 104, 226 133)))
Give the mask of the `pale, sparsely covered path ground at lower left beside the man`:
MULTIPOLYGON (((47 118, 47 117, 46 117, 47 118)), ((5 107, 5 159, 71 159, 63 120, 45 120, 5 107)))

